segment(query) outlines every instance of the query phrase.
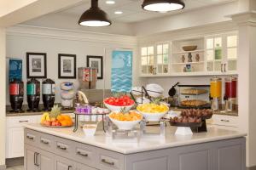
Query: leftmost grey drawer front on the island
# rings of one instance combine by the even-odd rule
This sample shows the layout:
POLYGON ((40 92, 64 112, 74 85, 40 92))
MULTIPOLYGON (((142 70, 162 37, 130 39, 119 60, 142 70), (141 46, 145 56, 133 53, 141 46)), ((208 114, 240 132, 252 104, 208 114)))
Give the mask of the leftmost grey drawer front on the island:
POLYGON ((31 144, 38 147, 39 133, 30 129, 25 129, 24 140, 26 144, 31 144))

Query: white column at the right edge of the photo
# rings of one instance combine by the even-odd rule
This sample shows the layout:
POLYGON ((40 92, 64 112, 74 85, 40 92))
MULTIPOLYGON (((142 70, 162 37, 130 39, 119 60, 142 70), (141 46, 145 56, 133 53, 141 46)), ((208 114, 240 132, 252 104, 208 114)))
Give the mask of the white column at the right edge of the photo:
POLYGON ((256 13, 232 15, 239 27, 238 105, 241 129, 247 132, 247 167, 256 166, 256 13))

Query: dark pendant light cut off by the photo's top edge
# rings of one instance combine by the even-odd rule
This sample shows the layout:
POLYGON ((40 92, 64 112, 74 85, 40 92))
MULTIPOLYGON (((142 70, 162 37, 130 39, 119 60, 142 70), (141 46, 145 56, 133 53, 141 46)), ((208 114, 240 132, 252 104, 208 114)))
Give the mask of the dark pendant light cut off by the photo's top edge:
POLYGON ((169 12, 185 7, 182 0, 144 0, 143 9, 154 12, 169 12))

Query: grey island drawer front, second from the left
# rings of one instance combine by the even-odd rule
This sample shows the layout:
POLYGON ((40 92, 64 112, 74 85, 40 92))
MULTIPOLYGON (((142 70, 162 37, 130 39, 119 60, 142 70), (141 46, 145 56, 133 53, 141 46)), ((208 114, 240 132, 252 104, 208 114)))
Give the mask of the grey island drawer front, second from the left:
POLYGON ((40 133, 39 135, 39 147, 43 150, 52 151, 55 147, 55 140, 52 135, 40 133))

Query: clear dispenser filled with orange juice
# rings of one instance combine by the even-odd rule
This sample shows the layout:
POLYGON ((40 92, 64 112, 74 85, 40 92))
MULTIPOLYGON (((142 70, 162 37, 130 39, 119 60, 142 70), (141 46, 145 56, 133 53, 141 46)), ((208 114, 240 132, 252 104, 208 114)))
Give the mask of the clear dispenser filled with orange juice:
POLYGON ((211 78, 210 97, 212 99, 212 110, 218 111, 221 104, 222 79, 218 77, 211 78))

